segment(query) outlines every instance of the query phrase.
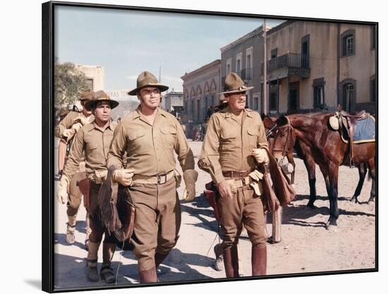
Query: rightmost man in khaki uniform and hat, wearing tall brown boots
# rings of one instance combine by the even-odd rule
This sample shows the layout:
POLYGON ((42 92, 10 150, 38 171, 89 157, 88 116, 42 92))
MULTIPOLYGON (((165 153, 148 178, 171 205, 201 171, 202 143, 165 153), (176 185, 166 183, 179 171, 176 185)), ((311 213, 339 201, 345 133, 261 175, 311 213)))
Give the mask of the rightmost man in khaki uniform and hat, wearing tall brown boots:
POLYGON ((267 236, 262 203, 262 174, 257 163, 267 163, 265 129, 260 114, 245 109, 245 87, 236 73, 229 73, 222 94, 228 106, 212 114, 198 166, 210 173, 219 191, 217 206, 226 277, 237 277, 238 237, 245 226, 252 242, 252 275, 267 271, 267 236), (259 147, 259 148, 257 148, 259 147))

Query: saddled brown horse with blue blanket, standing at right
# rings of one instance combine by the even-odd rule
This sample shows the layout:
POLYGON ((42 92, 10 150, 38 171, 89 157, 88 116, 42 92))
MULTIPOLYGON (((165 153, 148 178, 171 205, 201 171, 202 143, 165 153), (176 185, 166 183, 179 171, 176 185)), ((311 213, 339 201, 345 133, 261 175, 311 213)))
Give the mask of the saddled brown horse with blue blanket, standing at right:
MULTIPOLYGON (((327 194, 330 202, 330 216, 326 224, 327 228, 329 228, 330 225, 337 225, 337 218, 339 216, 337 204, 339 165, 349 165, 350 162, 348 144, 341 140, 338 131, 333 131, 328 126, 329 117, 331 116, 332 114, 330 113, 316 113, 293 114, 287 117, 280 117, 277 119, 277 124, 281 127, 277 128, 274 139, 274 147, 272 149, 275 158, 282 158, 284 149, 287 148, 286 143, 289 141, 289 137, 295 136, 299 147, 301 147, 304 151, 308 151, 314 162, 320 166, 320 170, 322 171, 322 175, 325 179, 327 194)), ((296 150, 298 150, 298 148, 296 148, 296 150)), ((353 146, 353 162, 355 165, 360 165, 360 181, 358 182, 356 192, 358 189, 360 190, 363 185, 363 179, 365 178, 365 164, 368 165, 370 177, 372 177, 372 189, 368 203, 370 201, 374 201, 375 142, 355 144, 353 146)), ((356 196, 356 194, 357 193, 355 193, 352 198, 355 201, 357 201, 358 196, 356 196)), ((310 194, 309 204, 311 201, 312 199, 310 194)))

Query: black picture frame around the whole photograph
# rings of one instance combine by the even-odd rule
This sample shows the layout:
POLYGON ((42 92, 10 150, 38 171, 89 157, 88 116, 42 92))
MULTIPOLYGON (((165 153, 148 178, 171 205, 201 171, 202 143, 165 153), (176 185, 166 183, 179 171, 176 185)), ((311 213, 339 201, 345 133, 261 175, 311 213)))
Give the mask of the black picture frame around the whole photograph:
MULTIPOLYGON (((119 288, 131 288, 131 287, 143 287, 143 286, 168 286, 168 285, 180 285, 182 283, 214 283, 223 281, 244 281, 260 278, 286 278, 296 276, 320 276, 320 275, 332 275, 332 274, 353 274, 362 272, 374 272, 379 271, 379 258, 378 258, 378 197, 375 201, 375 267, 371 269, 355 269, 355 270, 340 270, 340 271, 322 271, 311 273, 295 273, 295 274, 279 274, 271 275, 260 278, 255 277, 241 277, 237 279, 217 278, 214 280, 201 280, 190 282, 161 282, 152 285, 128 285, 128 286, 97 286, 97 287, 85 287, 85 288, 54 288, 54 9, 58 6, 72 6, 72 7, 84 7, 84 8, 102 8, 102 9, 119 9, 130 11, 150 11, 159 13, 181 13, 200 16, 231 16, 241 18, 269 18, 269 19, 281 19, 281 20, 303 20, 303 21, 315 21, 315 22, 330 22, 330 23, 348 23, 348 24, 360 24, 360 25, 375 25, 375 81, 376 81, 376 103, 375 113, 379 112, 379 93, 378 93, 378 30, 379 24, 370 21, 356 21, 356 20, 333 20, 333 19, 317 19, 317 18, 301 18, 291 16, 270 16, 260 14, 248 14, 248 13, 226 13, 217 11, 191 11, 171 8, 150 8, 140 6, 119 6, 119 5, 104 5, 104 4, 84 4, 73 2, 61 2, 61 1, 49 1, 42 4, 42 290, 47 293, 54 292, 68 292, 77 290, 104 290, 104 289, 119 289, 119 288)), ((341 51, 342 52, 342 51, 341 51)), ((354 52, 351 52, 354 54, 354 52)), ((278 102, 279 103, 279 102, 278 102)), ((279 108, 279 105, 277 106, 279 108)), ((378 123, 376 124, 376 133, 378 134, 378 123)), ((377 142, 377 139, 376 139, 377 142)), ((376 145, 376 152, 378 158, 378 144, 376 145)), ((378 170, 378 163, 376 162, 378 170)), ((376 183, 376 194, 378 195, 378 177, 376 183)))

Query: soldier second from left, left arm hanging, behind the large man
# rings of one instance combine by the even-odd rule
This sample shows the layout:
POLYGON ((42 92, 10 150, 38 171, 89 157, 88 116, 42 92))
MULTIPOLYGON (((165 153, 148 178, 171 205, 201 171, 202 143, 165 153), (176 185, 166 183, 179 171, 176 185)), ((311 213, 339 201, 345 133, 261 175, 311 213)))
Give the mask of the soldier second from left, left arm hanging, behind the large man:
MULTIPOLYGON (((98 91, 93 99, 85 103, 95 114, 95 120, 85 125, 75 136, 68 162, 63 170, 61 182, 59 183, 57 196, 66 196, 68 185, 77 172, 78 165, 83 160, 85 154, 85 170, 90 179, 90 244, 87 253, 87 279, 98 281, 97 274, 97 252, 99 249, 104 227, 99 220, 97 205, 97 195, 102 181, 107 177, 107 155, 109 146, 114 134, 114 124, 111 123, 111 109, 119 105, 119 102, 111 100, 104 91, 98 91)), ((102 245, 102 268, 100 276, 107 283, 115 281, 114 272, 111 269, 111 259, 116 248, 116 238, 114 235, 105 234, 102 245)))

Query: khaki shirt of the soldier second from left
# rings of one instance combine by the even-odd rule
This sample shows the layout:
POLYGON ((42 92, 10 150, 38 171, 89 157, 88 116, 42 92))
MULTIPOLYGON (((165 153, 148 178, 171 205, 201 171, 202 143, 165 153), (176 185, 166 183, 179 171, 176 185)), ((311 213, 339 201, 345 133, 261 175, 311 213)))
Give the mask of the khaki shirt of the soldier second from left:
POLYGON ((115 124, 110 123, 105 129, 95 122, 86 124, 75 135, 63 173, 71 179, 77 171, 85 151, 85 167, 87 174, 96 170, 107 170, 107 155, 113 139, 115 124))

